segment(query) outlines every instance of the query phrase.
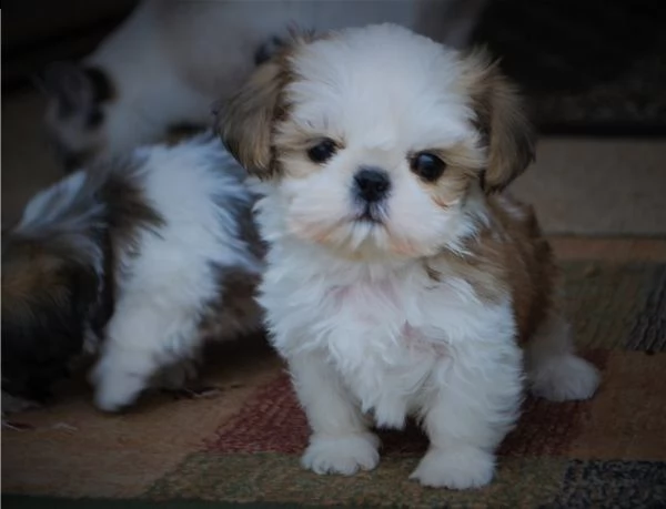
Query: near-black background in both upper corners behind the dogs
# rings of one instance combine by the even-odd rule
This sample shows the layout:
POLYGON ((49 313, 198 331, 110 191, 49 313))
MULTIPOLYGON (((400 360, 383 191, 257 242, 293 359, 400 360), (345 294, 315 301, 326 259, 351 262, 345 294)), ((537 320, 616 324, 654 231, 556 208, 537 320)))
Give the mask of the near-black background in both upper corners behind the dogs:
MULTIPOLYGON (((3 3, 2 90, 11 92, 46 63, 92 51, 137 1, 3 3)), ((666 134, 664 1, 491 0, 474 42, 502 58, 542 132, 666 134)))

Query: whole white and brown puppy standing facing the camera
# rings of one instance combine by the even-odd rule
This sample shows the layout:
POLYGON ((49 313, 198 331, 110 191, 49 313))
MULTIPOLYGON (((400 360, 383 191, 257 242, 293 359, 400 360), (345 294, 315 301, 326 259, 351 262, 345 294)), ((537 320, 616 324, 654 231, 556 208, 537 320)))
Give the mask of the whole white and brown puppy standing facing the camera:
POLYGON ((219 130, 263 181, 260 303, 312 428, 306 468, 372 469, 369 425, 414 416, 431 447, 412 477, 480 487, 525 378, 553 400, 594 394, 548 244, 500 194, 533 135, 484 57, 392 24, 303 38, 256 70, 219 130))

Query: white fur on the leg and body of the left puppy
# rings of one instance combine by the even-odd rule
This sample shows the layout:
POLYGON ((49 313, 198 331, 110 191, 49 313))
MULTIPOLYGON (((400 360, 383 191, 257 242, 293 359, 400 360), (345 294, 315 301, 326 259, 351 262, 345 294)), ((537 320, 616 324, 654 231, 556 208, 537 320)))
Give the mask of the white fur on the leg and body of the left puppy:
POLYGON ((196 355, 203 309, 223 291, 215 266, 261 269, 234 208, 251 206, 252 197, 216 140, 142 149, 137 156, 144 157, 141 190, 164 225, 143 230, 122 255, 115 312, 93 373, 95 403, 104 410, 131 403, 159 369, 196 355))

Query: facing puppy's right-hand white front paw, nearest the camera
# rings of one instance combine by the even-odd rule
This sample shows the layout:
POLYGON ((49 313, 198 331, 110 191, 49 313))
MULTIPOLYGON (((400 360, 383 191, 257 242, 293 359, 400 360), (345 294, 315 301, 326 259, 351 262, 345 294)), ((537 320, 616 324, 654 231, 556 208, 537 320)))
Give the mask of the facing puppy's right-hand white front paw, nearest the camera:
POLYGON ((431 448, 410 479, 433 488, 480 488, 493 479, 495 457, 474 447, 431 448))

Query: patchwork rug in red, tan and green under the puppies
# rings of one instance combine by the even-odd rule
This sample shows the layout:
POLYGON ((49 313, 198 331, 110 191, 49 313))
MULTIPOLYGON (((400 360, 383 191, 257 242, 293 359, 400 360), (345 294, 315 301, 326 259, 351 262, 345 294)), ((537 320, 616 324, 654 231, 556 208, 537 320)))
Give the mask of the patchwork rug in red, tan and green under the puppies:
POLYGON ((303 471, 307 425, 261 338, 219 352, 200 399, 147 397, 123 415, 80 386, 2 431, 7 508, 666 507, 666 241, 555 238, 594 399, 528 399, 503 442, 496 479, 456 492, 407 480, 426 440, 384 432, 376 470, 303 471))

